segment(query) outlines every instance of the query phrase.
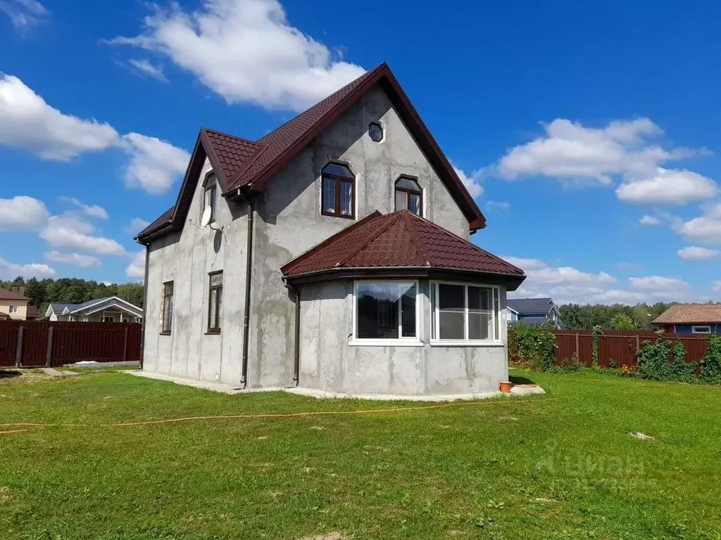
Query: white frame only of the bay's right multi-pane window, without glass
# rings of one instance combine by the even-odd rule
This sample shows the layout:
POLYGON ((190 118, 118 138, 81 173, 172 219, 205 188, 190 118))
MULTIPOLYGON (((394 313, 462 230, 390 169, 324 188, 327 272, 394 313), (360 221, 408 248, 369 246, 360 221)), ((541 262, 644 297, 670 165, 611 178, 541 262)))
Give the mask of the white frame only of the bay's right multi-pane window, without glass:
MULTIPOLYGON (((503 346, 503 338, 500 333, 501 326, 501 307, 500 307, 500 287, 498 285, 492 285, 487 283, 469 283, 469 282, 449 282, 438 279, 431 279, 428 282, 428 297, 430 300, 430 345, 431 346, 473 346, 473 345, 484 345, 484 346, 503 346), (441 339, 435 337, 438 335, 440 329, 440 313, 438 309, 438 294, 440 287, 439 284, 443 285, 458 285, 464 287, 464 339, 441 339), (433 287, 435 285, 435 287, 433 287), (469 339, 469 308, 468 308, 468 287, 479 287, 483 289, 491 289, 491 320, 492 327, 490 331, 490 338, 487 339, 469 339), (430 295, 433 294, 433 297, 430 295)), ((487 310, 484 310, 487 311, 487 310)))

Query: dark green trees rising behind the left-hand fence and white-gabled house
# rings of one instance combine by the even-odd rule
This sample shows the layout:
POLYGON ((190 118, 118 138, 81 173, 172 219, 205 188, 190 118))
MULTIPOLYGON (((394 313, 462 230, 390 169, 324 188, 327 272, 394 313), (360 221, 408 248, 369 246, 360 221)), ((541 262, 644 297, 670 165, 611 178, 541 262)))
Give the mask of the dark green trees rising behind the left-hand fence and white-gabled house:
POLYGON ((144 287, 140 283, 98 283, 94 280, 60 278, 60 279, 23 279, 18 276, 12 282, 0 280, 0 287, 9 289, 17 285, 25 286, 25 296, 30 298, 30 305, 40 310, 40 317, 45 316, 48 305, 82 304, 97 298, 117 296, 138 307, 143 307, 144 287))

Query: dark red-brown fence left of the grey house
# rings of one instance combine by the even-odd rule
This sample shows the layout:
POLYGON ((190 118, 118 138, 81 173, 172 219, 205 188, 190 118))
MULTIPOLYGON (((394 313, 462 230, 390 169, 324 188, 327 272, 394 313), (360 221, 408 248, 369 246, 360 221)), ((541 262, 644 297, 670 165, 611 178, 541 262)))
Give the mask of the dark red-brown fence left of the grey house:
POLYGON ((0 366, 140 361, 142 341, 136 323, 0 321, 0 366))

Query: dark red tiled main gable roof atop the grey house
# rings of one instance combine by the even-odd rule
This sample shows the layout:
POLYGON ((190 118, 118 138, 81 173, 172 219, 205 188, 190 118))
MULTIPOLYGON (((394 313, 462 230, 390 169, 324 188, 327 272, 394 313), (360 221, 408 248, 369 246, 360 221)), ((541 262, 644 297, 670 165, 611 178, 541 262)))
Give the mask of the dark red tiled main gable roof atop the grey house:
POLYGON ((247 140, 203 127, 188 163, 177 202, 171 210, 139 233, 136 240, 143 243, 151 235, 167 232, 166 229, 182 228, 206 156, 216 172, 225 197, 233 197, 239 190, 260 193, 265 189, 267 181, 376 84, 381 85, 389 96, 416 143, 456 200, 469 222, 471 232, 485 228, 485 216, 391 69, 382 63, 259 140, 247 140))

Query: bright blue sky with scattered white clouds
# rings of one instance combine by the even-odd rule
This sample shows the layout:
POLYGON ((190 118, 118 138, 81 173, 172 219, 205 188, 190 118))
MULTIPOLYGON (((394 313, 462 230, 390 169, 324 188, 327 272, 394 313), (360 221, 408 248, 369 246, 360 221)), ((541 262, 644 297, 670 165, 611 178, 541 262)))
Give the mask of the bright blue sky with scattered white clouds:
POLYGON ((688 4, 0 0, 0 279, 140 279, 200 126, 260 137, 387 61, 521 295, 721 300, 721 6, 688 4))

